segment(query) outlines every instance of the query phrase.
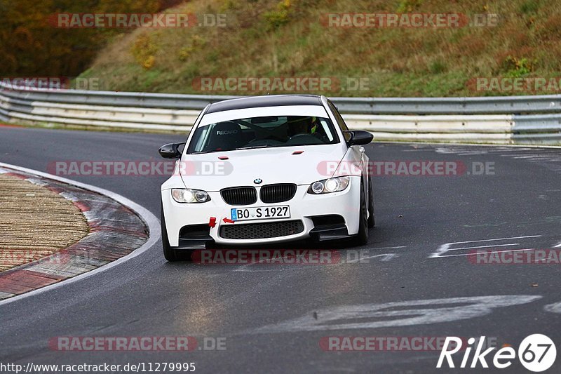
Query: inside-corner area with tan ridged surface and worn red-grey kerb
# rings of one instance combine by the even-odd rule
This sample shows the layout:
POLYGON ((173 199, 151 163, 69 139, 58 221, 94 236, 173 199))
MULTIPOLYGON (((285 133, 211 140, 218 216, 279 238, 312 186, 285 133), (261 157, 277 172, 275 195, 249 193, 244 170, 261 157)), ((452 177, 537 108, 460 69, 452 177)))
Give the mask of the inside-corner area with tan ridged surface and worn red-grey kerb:
POLYGON ((0 300, 128 255, 149 232, 109 196, 0 168, 0 300))

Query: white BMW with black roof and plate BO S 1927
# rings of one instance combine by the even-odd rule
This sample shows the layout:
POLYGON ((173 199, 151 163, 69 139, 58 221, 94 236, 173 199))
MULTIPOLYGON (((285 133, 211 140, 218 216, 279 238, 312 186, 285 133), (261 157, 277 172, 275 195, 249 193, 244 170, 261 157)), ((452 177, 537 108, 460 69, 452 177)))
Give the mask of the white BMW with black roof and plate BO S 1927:
POLYGON ((374 227, 367 131, 349 131, 324 96, 267 95, 203 109, 163 183, 162 242, 169 261, 215 244, 313 239, 365 244, 374 227))

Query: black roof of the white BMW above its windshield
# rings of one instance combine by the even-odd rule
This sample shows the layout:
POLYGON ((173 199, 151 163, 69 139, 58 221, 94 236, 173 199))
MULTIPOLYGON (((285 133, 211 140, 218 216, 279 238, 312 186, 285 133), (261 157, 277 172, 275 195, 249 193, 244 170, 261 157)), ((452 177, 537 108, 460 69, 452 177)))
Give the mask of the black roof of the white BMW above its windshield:
POLYGON ((322 105, 319 95, 264 95, 247 98, 230 99, 210 104, 206 113, 224 112, 226 110, 282 107, 288 105, 322 105))

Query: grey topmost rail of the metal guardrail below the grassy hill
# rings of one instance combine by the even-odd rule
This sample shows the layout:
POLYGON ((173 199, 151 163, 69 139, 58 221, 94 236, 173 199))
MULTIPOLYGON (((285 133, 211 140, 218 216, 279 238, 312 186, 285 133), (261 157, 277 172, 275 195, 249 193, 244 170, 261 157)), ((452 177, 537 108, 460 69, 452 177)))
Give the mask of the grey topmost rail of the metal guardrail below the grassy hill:
MULTIPOLYGON (((0 88, 6 85, 0 83, 0 88)), ((210 102, 242 98, 232 95, 184 95, 81 90, 8 90, 9 98, 119 107, 203 109, 210 102)), ((561 112, 561 95, 478 98, 332 98, 349 114, 532 114, 561 112)))

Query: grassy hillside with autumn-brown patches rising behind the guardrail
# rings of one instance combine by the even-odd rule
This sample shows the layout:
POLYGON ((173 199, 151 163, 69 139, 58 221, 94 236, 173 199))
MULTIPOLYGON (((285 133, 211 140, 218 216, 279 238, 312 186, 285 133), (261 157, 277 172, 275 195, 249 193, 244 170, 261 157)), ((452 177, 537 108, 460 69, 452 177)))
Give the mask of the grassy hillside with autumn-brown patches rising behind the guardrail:
POLYGON ((283 84, 305 77, 329 84, 293 91, 332 96, 560 91, 559 1, 194 0, 167 12, 196 13, 198 20, 203 13, 225 14, 226 27, 123 33, 81 76, 114 91, 222 95, 264 93, 239 87, 244 79, 267 77, 270 84, 262 87, 271 93, 286 92, 275 79, 283 84), (480 23, 494 16, 477 15, 498 18, 494 26, 478 27, 329 27, 333 13, 461 13, 462 22, 480 23), (227 78, 234 89, 221 86, 227 78), (201 90, 201 79, 212 84, 201 90), (362 89, 355 89, 358 81, 362 89))

